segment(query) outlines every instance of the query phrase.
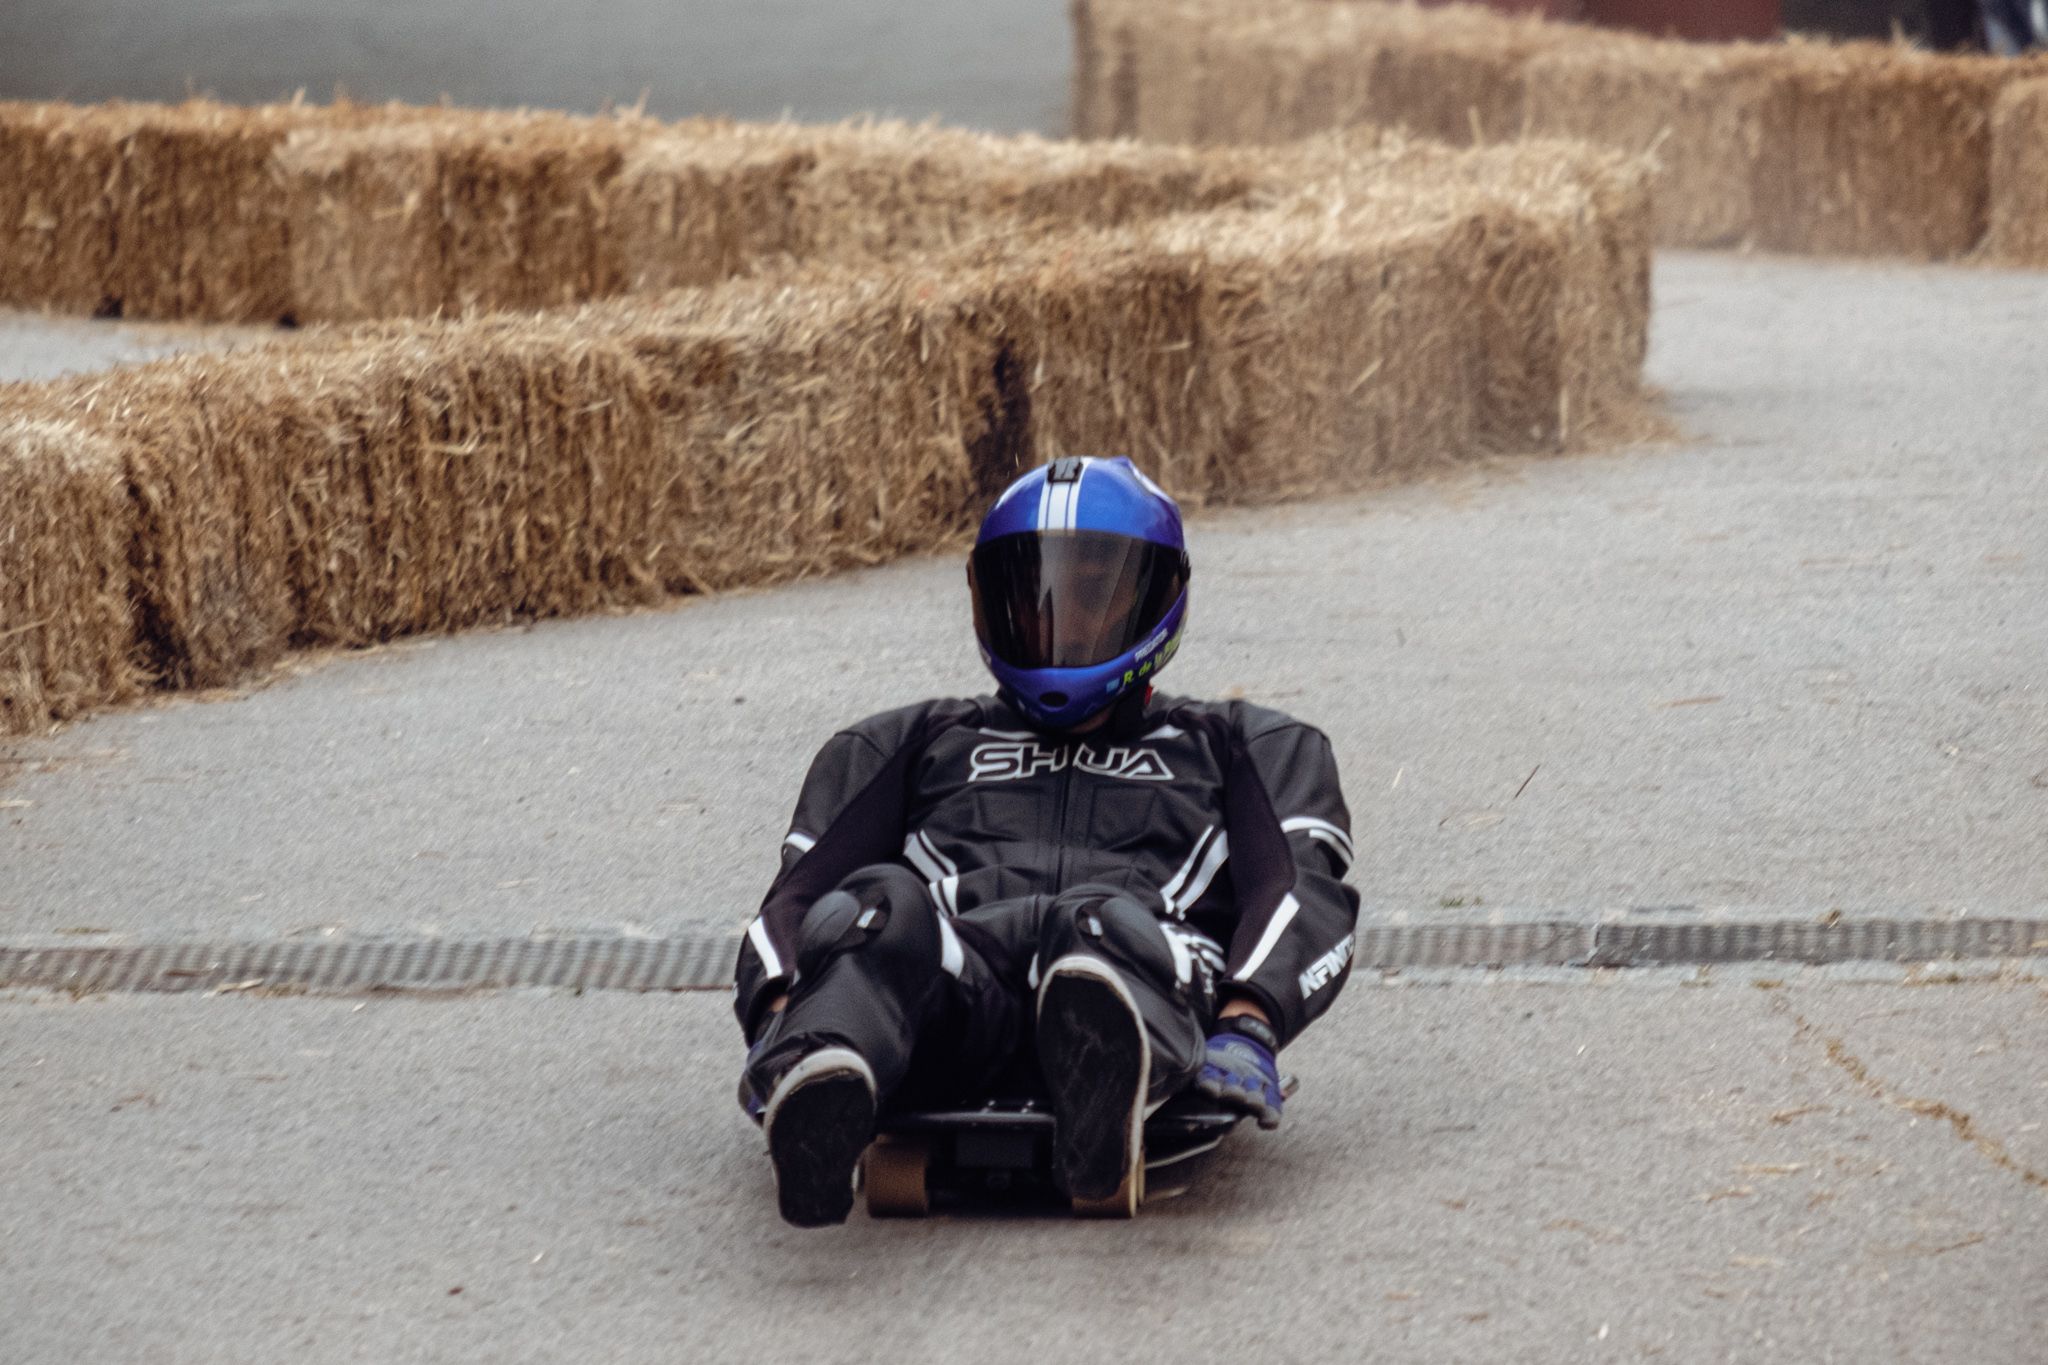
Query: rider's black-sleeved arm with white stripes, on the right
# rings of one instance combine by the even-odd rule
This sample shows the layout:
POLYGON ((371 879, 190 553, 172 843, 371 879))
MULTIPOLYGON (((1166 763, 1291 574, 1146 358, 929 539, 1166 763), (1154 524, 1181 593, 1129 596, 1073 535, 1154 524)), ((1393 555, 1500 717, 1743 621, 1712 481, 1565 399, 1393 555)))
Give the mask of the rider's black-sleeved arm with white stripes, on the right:
POLYGON ((1321 731, 1255 708, 1235 731, 1225 804, 1239 919, 1219 993, 1225 1015, 1255 1007, 1286 1044, 1350 976, 1352 819, 1321 731))

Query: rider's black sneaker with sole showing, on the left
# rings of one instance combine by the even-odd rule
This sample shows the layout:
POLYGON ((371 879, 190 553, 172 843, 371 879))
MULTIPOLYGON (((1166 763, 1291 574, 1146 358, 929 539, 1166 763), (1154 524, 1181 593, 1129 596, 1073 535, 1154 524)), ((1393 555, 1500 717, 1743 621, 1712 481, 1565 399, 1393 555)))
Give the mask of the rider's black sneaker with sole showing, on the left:
POLYGON ((762 1115, 782 1218, 799 1228, 844 1224, 854 1169, 874 1138, 874 1072, 850 1048, 821 1048, 791 1066, 762 1115))

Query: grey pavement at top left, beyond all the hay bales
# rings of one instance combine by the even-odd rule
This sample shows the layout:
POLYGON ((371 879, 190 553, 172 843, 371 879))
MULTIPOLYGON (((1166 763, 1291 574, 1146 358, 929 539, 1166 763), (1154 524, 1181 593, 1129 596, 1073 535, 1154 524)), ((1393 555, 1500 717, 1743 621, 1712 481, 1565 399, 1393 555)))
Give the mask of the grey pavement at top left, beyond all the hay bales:
POLYGON ((8 0, 0 98, 328 98, 1067 127, 1065 0, 8 0))

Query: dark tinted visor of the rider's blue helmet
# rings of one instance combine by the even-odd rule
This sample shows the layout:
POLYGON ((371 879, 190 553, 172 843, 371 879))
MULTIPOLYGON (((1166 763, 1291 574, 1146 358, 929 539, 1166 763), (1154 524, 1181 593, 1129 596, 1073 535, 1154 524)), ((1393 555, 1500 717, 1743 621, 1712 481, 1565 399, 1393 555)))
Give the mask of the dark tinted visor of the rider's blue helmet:
POLYGON ((1108 663, 1188 585, 1188 557, 1104 530, 999 536, 975 548, 975 630, 1020 669, 1108 663))

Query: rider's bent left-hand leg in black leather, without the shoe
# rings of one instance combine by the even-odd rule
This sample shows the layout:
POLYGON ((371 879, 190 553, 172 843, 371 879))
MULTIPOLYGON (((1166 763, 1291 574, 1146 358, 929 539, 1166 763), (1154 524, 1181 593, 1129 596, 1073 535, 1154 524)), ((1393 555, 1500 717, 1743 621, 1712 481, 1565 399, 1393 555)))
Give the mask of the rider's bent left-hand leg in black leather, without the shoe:
POLYGON ((918 1033, 944 1009, 963 962, 958 935, 913 872, 887 864, 854 872, 803 919, 788 1005, 770 1017, 748 1058, 754 1091, 768 1095, 819 1048, 850 1048, 887 1097, 903 1083, 918 1033))

